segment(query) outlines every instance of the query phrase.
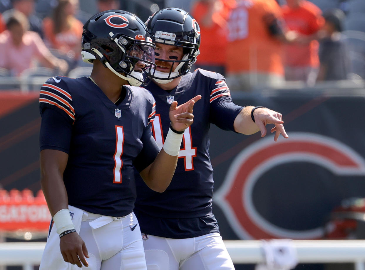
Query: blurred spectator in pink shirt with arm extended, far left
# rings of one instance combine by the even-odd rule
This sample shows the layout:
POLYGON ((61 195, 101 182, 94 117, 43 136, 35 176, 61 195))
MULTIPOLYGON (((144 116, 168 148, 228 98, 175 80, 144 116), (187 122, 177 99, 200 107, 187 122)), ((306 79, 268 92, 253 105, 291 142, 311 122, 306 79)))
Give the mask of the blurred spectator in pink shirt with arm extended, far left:
POLYGON ((65 73, 67 63, 55 58, 36 32, 28 31, 29 23, 22 12, 14 11, 6 27, 7 30, 0 34, 0 67, 17 76, 35 66, 34 60, 39 60, 44 66, 65 73))

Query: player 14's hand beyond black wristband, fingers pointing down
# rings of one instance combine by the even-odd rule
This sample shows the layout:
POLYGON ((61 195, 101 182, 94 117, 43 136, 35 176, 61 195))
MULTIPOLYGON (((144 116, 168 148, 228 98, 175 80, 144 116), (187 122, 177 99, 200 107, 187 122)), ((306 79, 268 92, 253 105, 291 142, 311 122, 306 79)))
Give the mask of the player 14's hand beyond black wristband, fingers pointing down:
POLYGON ((271 129, 271 133, 275 132, 274 141, 277 141, 279 135, 284 138, 289 138, 284 129, 284 121, 281 113, 270 110, 268 108, 257 108, 253 112, 255 123, 261 131, 261 137, 266 135, 266 124, 274 124, 275 127, 271 129))

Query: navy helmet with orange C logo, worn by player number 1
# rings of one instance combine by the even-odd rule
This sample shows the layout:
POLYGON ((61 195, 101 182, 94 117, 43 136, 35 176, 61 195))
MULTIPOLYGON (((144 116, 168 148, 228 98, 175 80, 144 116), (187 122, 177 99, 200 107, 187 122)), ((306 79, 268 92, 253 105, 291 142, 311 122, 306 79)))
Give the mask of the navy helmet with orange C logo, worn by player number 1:
POLYGON ((130 85, 144 83, 142 73, 134 71, 137 62, 151 76, 154 70, 154 48, 143 21, 132 13, 108 10, 91 17, 83 27, 82 60, 101 63, 130 85), (151 69, 152 68, 152 69, 151 69))

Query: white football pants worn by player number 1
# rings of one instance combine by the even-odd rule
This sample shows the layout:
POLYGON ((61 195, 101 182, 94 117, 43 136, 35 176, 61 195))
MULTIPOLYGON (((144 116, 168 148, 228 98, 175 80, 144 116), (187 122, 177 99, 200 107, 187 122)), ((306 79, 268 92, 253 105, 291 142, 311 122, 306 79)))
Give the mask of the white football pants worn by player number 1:
POLYGON ((141 231, 134 213, 113 218, 69 206, 72 222, 86 244, 89 267, 65 262, 53 226, 42 255, 40 270, 146 270, 141 231))

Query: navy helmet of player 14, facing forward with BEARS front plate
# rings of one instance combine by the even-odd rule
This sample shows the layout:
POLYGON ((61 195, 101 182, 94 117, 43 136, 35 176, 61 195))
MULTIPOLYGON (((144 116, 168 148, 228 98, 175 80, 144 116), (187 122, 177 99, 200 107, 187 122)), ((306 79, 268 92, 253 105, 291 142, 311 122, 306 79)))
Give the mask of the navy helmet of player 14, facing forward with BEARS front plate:
POLYGON ((196 57, 199 55, 200 28, 197 21, 181 8, 164 8, 154 13, 146 21, 146 26, 154 43, 162 43, 182 47, 184 56, 181 60, 155 59, 172 62, 169 73, 154 71, 151 76, 158 83, 168 83, 187 74, 196 57), (174 63, 178 63, 175 70, 174 63))

